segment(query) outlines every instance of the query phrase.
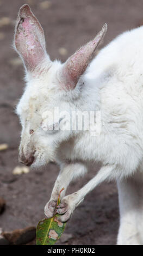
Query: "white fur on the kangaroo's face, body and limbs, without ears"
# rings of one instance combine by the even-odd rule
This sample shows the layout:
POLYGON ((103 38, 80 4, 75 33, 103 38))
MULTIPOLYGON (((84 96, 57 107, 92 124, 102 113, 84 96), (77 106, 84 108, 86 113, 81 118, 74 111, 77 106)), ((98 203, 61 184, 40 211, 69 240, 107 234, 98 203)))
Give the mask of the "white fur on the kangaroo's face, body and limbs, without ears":
POLYGON ((105 179, 116 179, 121 215, 119 245, 143 244, 142 45, 143 27, 118 36, 92 60, 70 91, 60 86, 58 70, 63 64, 57 60, 49 64, 47 57, 33 74, 27 72, 27 86, 17 106, 22 123, 20 151, 35 151, 33 167, 50 161, 60 166, 45 214, 53 215, 51 202, 57 200, 62 187, 65 214, 60 220, 66 221, 88 192, 105 179), (90 130, 43 131, 41 125, 47 121, 42 118, 43 113, 54 107, 70 114, 74 110, 101 111, 100 135, 92 137, 90 130), (30 129, 34 130, 32 135, 30 129), (90 170, 95 161, 102 162, 95 178, 76 193, 65 196, 70 181, 90 170))

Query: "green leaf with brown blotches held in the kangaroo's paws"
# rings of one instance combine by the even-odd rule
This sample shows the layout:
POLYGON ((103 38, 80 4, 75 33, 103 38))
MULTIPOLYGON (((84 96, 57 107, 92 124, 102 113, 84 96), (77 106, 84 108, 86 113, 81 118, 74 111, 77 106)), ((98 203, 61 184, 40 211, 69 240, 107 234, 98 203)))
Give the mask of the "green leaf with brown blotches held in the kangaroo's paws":
MULTIPOLYGON (((62 188, 61 191, 63 191, 62 188)), ((60 193, 61 193, 60 191, 60 193)), ((57 200, 57 206, 60 204, 60 193, 57 200)), ((59 214, 56 214, 52 218, 44 218, 36 227, 36 245, 54 245, 54 243, 63 234, 66 222, 62 223, 58 221, 59 214)))

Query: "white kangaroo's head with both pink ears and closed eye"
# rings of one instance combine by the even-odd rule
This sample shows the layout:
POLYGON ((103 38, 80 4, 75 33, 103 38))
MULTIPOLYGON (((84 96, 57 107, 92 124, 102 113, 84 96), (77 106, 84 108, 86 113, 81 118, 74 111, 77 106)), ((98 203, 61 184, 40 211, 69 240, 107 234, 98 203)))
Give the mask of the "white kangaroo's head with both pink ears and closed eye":
POLYGON ((55 109, 64 113, 76 106, 82 87, 80 77, 106 31, 104 25, 93 40, 80 47, 64 64, 52 62, 39 21, 29 5, 20 8, 14 47, 26 70, 26 88, 17 105, 22 125, 19 158, 24 164, 38 166, 54 161, 59 144, 71 135, 71 131, 62 129, 66 125, 64 114, 53 120, 55 109))

